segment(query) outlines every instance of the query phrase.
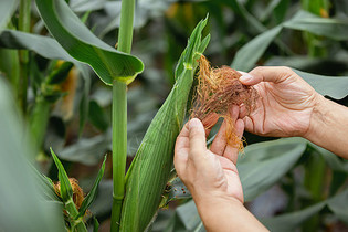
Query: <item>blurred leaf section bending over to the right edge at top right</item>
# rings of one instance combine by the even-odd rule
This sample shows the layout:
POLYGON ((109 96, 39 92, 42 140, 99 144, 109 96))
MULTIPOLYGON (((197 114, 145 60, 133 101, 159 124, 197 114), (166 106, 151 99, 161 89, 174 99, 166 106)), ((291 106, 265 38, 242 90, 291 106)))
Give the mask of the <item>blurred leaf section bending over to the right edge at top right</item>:
POLYGON ((313 34, 323 35, 338 41, 347 41, 348 22, 340 19, 328 19, 317 17, 306 11, 299 11, 289 21, 284 23, 285 28, 307 31, 313 34))

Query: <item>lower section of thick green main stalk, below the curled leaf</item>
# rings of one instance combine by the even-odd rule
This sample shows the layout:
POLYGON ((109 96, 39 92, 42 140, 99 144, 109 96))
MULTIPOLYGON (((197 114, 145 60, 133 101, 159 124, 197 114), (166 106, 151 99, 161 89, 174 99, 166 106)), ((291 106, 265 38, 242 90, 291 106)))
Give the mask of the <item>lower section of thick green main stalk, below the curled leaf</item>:
POLYGON ((127 159, 127 84, 113 82, 113 212, 112 231, 118 231, 125 194, 127 159))

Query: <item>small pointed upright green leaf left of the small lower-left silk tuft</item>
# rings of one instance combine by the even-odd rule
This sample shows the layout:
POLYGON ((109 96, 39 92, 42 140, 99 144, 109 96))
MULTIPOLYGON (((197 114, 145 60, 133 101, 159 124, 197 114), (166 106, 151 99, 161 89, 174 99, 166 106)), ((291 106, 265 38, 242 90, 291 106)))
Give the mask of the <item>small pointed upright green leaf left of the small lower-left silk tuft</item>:
POLYGON ((60 161, 60 159, 54 154, 53 149, 50 148, 50 150, 53 157, 53 161, 56 168, 59 169, 59 180, 61 182, 61 198, 63 199, 64 203, 67 201, 72 201, 73 189, 72 189, 72 184, 70 183, 68 177, 65 172, 65 169, 62 162, 60 161))

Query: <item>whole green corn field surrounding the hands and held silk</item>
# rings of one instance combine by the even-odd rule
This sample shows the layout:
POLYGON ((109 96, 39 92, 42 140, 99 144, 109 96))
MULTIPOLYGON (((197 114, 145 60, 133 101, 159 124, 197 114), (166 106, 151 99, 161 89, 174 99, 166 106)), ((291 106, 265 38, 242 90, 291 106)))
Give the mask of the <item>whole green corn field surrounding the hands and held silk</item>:
MULTIPOLYGON (((1 0, 0 12, 0 231, 205 231, 173 167, 202 54, 289 66, 348 106, 345 0, 1 0)), ((267 229, 348 230, 347 160, 244 137, 245 205, 267 229)))

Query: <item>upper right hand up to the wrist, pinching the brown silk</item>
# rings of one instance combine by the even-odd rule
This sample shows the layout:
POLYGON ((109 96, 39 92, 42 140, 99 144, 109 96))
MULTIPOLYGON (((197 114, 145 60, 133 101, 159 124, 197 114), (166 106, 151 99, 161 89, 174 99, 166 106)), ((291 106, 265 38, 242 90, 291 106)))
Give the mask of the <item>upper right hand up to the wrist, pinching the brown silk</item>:
POLYGON ((240 81, 260 95, 249 116, 241 107, 245 129, 261 136, 305 137, 321 95, 289 67, 262 66, 242 74, 240 81))

